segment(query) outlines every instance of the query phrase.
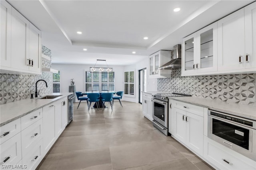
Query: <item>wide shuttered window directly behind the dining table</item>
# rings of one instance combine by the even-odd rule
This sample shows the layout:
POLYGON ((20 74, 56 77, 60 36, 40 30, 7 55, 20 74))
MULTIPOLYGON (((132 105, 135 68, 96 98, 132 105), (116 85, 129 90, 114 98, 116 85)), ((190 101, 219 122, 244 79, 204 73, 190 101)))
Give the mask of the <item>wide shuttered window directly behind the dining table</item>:
POLYGON ((85 92, 115 92, 115 73, 86 71, 85 92))

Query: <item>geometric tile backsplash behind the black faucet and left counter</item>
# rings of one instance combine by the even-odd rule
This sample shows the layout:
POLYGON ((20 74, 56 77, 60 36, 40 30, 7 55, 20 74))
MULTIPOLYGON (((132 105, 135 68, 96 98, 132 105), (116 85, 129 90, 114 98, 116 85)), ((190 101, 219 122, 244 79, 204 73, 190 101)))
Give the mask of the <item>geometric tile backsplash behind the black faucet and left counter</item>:
MULTIPOLYGON (((42 45, 42 53, 51 58, 50 49, 42 45)), ((42 60, 42 68, 51 68, 51 61, 42 60)), ((31 93, 36 92, 36 81, 43 79, 47 82, 38 82, 40 95, 52 93, 52 72, 37 74, 6 74, 0 73, 0 104, 6 104, 17 100, 30 98, 31 93)))

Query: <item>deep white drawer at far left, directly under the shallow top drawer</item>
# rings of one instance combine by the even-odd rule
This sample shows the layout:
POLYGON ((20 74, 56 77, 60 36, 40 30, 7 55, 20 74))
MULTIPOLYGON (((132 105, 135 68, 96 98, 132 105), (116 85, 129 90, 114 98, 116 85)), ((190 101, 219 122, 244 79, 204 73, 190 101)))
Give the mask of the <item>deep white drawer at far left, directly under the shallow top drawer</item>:
POLYGON ((0 145, 1 168, 4 165, 16 165, 21 160, 21 139, 20 133, 0 145), (4 163, 3 163, 4 162, 4 163))

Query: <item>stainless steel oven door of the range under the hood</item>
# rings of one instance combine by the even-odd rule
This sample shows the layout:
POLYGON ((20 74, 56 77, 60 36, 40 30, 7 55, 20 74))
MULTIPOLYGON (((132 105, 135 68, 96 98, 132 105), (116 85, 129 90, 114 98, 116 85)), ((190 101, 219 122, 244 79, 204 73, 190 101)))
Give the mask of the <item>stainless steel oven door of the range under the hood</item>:
POLYGON ((167 128, 168 102, 152 99, 153 102, 153 119, 167 128))

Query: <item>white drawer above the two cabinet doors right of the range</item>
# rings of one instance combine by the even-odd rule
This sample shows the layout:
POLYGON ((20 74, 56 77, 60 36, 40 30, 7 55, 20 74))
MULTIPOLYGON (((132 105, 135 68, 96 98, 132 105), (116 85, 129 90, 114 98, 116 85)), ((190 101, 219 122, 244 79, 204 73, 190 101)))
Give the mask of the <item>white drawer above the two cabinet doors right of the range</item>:
POLYGON ((176 101, 173 107, 204 117, 204 107, 201 106, 176 101))

